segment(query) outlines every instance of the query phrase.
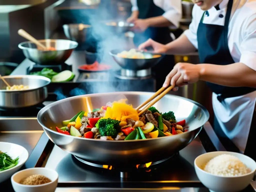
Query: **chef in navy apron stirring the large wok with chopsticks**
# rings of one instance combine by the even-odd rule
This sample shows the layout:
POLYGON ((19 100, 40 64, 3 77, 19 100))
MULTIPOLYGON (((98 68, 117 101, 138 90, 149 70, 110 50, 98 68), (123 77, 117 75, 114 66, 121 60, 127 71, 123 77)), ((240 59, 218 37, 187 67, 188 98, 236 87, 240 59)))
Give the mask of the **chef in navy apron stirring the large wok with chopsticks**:
POLYGON ((170 54, 198 49, 200 64, 177 63, 163 86, 206 81, 221 143, 256 160, 256 0, 192 1, 188 30, 169 44, 149 39, 139 49, 152 46, 170 54))

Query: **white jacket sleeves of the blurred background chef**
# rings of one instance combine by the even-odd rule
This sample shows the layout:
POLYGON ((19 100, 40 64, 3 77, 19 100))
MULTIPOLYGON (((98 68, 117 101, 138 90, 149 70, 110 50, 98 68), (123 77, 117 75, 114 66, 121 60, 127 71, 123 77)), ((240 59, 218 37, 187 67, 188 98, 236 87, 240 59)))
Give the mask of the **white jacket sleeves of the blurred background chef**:
MULTIPOLYGON (((138 10, 137 0, 131 0, 131 3, 132 11, 138 10)), ((170 28, 179 27, 179 21, 182 18, 181 0, 154 0, 154 4, 165 11, 163 17, 168 19, 175 26, 170 28)))

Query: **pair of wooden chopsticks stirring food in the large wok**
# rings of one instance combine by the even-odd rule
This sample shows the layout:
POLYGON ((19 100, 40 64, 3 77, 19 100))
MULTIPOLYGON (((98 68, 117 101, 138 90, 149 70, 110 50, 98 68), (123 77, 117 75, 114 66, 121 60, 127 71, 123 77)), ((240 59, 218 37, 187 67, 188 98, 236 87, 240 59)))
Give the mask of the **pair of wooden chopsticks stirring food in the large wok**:
POLYGON ((170 86, 168 88, 162 87, 161 89, 159 89, 152 97, 150 97, 148 100, 146 100, 144 103, 142 103, 141 105, 139 105, 136 108, 136 111, 138 111, 139 109, 142 109, 142 111, 140 111, 138 113, 138 116, 140 116, 142 113, 144 113, 146 110, 148 110, 148 108, 152 107, 157 101, 162 99, 164 97, 164 95, 166 95, 173 88, 174 88, 174 86, 170 86), (153 99, 155 99, 155 100, 152 101, 153 99))

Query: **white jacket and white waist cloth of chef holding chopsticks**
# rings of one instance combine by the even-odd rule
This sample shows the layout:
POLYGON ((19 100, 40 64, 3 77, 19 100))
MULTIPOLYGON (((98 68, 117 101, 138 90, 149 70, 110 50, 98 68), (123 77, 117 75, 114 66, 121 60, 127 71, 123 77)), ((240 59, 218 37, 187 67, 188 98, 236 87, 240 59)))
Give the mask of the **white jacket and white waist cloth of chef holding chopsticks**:
MULTIPOLYGON (((203 23, 224 25, 228 0, 219 4, 220 10, 208 10, 203 23), (222 16, 221 16, 222 15, 222 16)), ((194 5, 192 22, 184 33, 189 41, 198 48, 197 28, 204 11, 194 5)), ((241 62, 256 70, 256 0, 233 0, 231 19, 228 27, 228 47, 235 62, 241 62)), ((218 63, 216 63, 218 64, 218 63)), ((223 132, 244 152, 255 108, 256 91, 233 98, 222 103, 212 95, 215 116, 223 132)))

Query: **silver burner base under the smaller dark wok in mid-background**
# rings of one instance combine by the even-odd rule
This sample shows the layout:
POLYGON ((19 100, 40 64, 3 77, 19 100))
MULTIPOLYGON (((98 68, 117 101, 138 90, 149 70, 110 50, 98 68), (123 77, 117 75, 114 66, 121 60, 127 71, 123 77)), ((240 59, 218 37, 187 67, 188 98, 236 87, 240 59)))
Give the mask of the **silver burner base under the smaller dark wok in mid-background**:
POLYGON ((115 77, 119 79, 149 79, 151 78, 151 69, 144 69, 133 71, 128 69, 121 69, 115 72, 115 77))

